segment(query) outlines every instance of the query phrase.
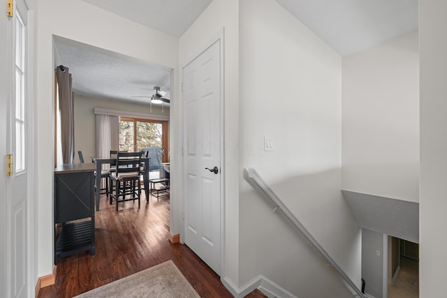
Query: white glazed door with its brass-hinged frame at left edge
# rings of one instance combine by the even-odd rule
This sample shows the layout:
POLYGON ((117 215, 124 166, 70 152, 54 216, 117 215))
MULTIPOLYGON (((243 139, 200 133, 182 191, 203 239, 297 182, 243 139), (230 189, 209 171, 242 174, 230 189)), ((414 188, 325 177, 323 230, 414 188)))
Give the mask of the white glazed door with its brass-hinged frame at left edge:
POLYGON ((6 155, 13 155, 13 174, 6 176, 6 166, 0 170, 0 186, 6 190, 4 209, 2 208, 6 212, 5 218, 1 220, 1 234, 4 233, 6 236, 6 251, 1 252, 1 255, 6 256, 4 264, 6 266, 1 264, 1 276, 3 276, 1 279, 6 280, 6 284, 5 287, 0 287, 0 296, 28 297, 27 165, 29 161, 26 160, 29 112, 26 110, 28 10, 23 1, 14 2, 13 17, 3 17, 2 14, 0 19, 0 27, 6 32, 4 38, 6 42, 2 43, 5 46, 1 48, 1 51, 5 51, 5 55, 2 55, 3 61, 6 61, 5 67, 1 68, 1 77, 5 80, 0 80, 0 89, 3 90, 0 108, 0 119, 3 121, 0 133, 3 138, 1 158, 6 161, 6 155))

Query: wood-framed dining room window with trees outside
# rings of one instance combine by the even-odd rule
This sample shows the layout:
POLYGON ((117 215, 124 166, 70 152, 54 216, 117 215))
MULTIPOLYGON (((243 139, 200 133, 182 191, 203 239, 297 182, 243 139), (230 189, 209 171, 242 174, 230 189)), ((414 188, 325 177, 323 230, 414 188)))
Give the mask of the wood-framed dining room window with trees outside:
POLYGON ((152 146, 160 147, 163 161, 168 161, 168 121, 120 117, 119 150, 141 151, 152 146))

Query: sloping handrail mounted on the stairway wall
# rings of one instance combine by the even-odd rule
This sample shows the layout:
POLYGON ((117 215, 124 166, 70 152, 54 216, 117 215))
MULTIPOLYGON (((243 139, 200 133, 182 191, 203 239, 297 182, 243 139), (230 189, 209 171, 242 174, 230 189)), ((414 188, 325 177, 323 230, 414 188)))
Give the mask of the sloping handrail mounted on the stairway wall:
POLYGON ((298 230, 300 230, 300 232, 302 232, 302 234, 305 235, 305 237, 309 240, 309 242, 316 248, 318 253, 321 253, 321 255, 323 255, 323 257, 330 263, 330 265, 335 268, 337 273, 340 276, 342 276, 344 281, 346 281, 346 283, 348 283, 348 285, 352 288, 352 290, 354 290, 357 293, 358 297, 366 298, 365 294, 363 294, 362 291, 357 288, 356 284, 353 283, 353 281, 351 281, 351 278, 349 278, 349 276, 347 276, 346 273, 344 273, 343 269, 340 268, 339 265, 337 265, 337 263, 334 260, 332 260, 332 258, 330 258, 330 255, 328 255, 328 253, 324 250, 324 248, 321 247, 320 244, 318 244, 318 242, 312 236, 312 234, 310 234, 310 232, 305 228, 305 226, 302 225, 300 221, 298 221, 298 218, 296 218, 291 213, 291 211, 286 207, 286 205, 278 198, 276 193, 274 193, 274 191, 272 191, 272 189, 267 184, 265 184, 263 179, 259 176, 258 172, 256 172, 256 170, 254 170, 253 167, 250 167, 248 173, 249 178, 253 179, 256 182, 256 184, 265 192, 265 194, 267 194, 268 197, 272 199, 274 204, 277 205, 275 209, 279 208, 281 209, 281 211, 284 212, 284 214, 286 214, 287 218, 296 226, 296 228, 298 228, 298 230))

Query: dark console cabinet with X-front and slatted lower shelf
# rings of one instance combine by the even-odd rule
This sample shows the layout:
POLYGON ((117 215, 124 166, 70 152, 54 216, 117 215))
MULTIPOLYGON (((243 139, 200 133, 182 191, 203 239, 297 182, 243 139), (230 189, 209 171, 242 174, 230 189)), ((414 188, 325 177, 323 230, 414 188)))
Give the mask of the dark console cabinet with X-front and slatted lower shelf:
POLYGON ((95 255, 94 170, 93 163, 54 169, 54 262, 81 251, 95 255))

